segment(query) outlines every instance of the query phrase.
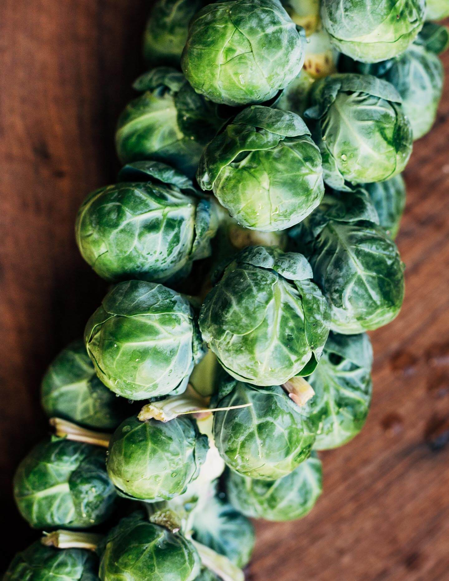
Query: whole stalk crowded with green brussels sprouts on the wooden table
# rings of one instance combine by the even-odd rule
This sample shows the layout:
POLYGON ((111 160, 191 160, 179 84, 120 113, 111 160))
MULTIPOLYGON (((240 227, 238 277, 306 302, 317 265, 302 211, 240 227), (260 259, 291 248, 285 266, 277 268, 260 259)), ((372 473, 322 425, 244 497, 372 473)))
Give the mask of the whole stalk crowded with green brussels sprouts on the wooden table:
POLYGON ((249 518, 312 510, 318 451, 367 421, 365 331, 403 304, 401 172, 436 119, 448 14, 153 2, 124 167, 76 219, 110 286, 42 379, 54 430, 13 485, 44 537, 5 581, 243 581, 249 518))

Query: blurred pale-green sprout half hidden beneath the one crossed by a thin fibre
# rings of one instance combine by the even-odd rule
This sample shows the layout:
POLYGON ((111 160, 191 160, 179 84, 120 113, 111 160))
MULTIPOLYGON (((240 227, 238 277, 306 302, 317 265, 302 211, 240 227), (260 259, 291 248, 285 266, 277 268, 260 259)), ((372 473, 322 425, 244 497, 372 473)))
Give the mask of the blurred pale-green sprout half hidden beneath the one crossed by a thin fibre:
POLYGON ((296 470, 278 480, 255 480, 229 472, 227 493, 236 510, 267 521, 305 517, 322 491, 321 461, 312 454, 296 470))

